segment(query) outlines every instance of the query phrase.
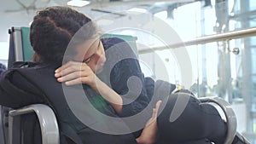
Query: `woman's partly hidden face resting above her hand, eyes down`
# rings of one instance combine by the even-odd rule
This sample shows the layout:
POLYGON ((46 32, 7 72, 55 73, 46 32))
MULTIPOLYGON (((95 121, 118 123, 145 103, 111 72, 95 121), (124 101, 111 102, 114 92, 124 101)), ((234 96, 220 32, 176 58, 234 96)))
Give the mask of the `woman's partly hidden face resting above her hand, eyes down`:
POLYGON ((86 63, 95 73, 102 72, 106 56, 100 37, 96 36, 79 44, 74 59, 86 63))

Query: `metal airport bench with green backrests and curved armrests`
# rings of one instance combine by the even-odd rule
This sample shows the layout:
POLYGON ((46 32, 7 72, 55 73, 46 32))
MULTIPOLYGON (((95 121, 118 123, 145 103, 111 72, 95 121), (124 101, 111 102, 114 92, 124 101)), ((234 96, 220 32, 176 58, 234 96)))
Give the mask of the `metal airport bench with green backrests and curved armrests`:
MULTIPOLYGON (((14 61, 32 60, 32 46, 29 42, 28 27, 12 27, 9 29, 9 67, 14 61)), ((105 37, 120 37, 131 45, 137 54, 136 37, 108 34, 105 37)), ((230 104, 219 97, 203 97, 202 102, 217 104, 224 112, 228 133, 224 144, 231 144, 236 135, 236 115, 230 104)), ((0 144, 21 144, 20 116, 29 112, 35 112, 40 124, 42 143, 59 144, 60 134, 55 113, 43 104, 33 104, 11 110, 8 107, 0 107, 0 144)))

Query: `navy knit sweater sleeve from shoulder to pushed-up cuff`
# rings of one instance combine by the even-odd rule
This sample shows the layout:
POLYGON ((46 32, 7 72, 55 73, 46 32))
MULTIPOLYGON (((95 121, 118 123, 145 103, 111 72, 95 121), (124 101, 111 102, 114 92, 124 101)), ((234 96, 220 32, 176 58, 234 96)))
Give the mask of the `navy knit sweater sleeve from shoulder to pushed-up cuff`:
POLYGON ((150 100, 137 56, 128 43, 116 37, 103 41, 103 45, 108 61, 106 67, 112 68, 107 70, 111 88, 121 95, 124 103, 119 116, 129 117, 142 112, 150 100))

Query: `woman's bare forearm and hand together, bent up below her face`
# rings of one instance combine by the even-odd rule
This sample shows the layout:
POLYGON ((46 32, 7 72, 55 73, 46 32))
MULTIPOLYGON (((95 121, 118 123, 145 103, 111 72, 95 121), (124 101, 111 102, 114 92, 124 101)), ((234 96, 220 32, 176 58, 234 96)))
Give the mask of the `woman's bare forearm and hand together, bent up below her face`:
POLYGON ((116 112, 119 113, 122 110, 123 99, 121 96, 113 89, 110 89, 107 84, 104 84, 100 78, 97 78, 90 66, 84 62, 67 62, 67 64, 55 70, 55 78, 57 78, 58 82, 63 82, 67 85, 88 84, 96 93, 109 101, 116 112))

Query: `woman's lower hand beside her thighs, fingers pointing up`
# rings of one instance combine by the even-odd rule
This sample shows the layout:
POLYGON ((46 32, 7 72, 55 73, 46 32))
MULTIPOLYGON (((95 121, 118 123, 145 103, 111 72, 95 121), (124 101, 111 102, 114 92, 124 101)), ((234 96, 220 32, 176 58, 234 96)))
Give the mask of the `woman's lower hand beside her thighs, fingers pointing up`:
POLYGON ((152 117, 148 119, 145 125, 142 135, 137 138, 138 144, 153 144, 156 141, 157 134, 157 113, 160 107, 161 101, 157 101, 155 108, 153 109, 152 117))

